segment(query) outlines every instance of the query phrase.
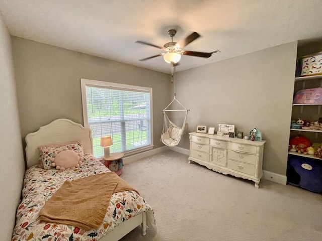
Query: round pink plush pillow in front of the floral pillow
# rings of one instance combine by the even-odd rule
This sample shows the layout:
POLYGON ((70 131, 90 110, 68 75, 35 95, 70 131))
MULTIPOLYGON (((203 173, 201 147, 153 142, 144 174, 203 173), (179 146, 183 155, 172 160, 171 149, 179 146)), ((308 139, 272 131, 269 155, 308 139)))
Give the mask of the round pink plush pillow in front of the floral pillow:
POLYGON ((53 159, 51 165, 58 170, 77 168, 82 164, 82 158, 74 151, 65 150, 58 153, 53 159))

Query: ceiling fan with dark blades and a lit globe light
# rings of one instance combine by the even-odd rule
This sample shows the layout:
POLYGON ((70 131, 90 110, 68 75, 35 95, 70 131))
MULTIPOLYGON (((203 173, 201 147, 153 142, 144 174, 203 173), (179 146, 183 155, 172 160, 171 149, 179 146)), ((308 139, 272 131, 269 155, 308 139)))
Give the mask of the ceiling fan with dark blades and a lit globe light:
POLYGON ((164 57, 164 60, 167 63, 171 63, 171 64, 175 64, 178 63, 181 59, 182 55, 190 55, 190 56, 196 56, 196 57, 202 57, 202 58, 209 58, 211 55, 213 54, 217 54, 220 53, 219 50, 215 50, 213 52, 196 52, 196 51, 187 51, 184 50, 183 48, 186 47, 188 44, 190 44, 191 42, 195 41, 196 39, 198 39, 200 37, 200 35, 196 32, 191 33, 188 37, 186 37, 185 39, 177 42, 173 42, 173 37, 176 35, 177 30, 175 29, 171 29, 168 31, 169 36, 171 37, 171 42, 166 43, 163 47, 154 45, 154 44, 150 44, 144 41, 136 41, 135 43, 139 43, 139 44, 145 44, 145 45, 149 45, 158 49, 163 49, 165 52, 164 53, 160 53, 157 55, 153 55, 144 59, 140 59, 140 61, 144 61, 144 60, 148 60, 148 59, 152 59, 158 56, 162 56, 164 57))

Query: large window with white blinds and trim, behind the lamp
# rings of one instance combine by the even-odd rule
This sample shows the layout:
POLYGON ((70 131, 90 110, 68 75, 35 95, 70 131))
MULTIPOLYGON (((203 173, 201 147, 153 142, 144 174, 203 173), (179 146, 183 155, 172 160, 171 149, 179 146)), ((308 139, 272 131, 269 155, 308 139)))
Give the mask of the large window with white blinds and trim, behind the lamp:
POLYGON ((104 156, 101 136, 110 135, 111 152, 136 153, 153 147, 152 88, 81 79, 84 126, 91 128, 94 156, 104 156))

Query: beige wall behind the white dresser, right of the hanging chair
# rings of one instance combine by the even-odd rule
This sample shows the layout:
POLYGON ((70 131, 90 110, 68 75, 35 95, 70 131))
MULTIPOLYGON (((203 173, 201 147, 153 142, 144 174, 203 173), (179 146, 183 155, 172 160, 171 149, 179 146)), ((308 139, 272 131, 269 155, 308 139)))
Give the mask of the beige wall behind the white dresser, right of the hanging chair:
MULTIPOLYGON (((264 170, 286 175, 297 42, 177 73, 177 97, 196 125, 257 127, 267 141, 264 170)), ((189 135, 180 147, 189 149, 189 135)))

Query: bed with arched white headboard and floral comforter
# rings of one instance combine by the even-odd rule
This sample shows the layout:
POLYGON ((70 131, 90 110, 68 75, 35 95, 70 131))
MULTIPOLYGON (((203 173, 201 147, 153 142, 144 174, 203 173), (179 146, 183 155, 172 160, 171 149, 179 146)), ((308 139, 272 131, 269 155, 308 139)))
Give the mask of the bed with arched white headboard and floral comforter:
MULTIPOLYGON (((135 189, 112 194, 107 210, 104 209, 104 220, 97 228, 84 230, 70 224, 40 220, 39 214, 44 210, 45 203, 51 198, 53 200, 57 190, 62 190, 66 183, 84 182, 88 178, 114 173, 91 155, 91 130, 69 119, 57 119, 37 132, 28 134, 26 144, 27 170, 12 240, 112 241, 119 240, 138 225, 142 226, 142 235, 146 234, 146 227, 156 228, 152 207, 135 189), (81 165, 63 171, 56 168, 45 169, 39 160, 39 146, 71 141, 83 145, 81 165)), ((95 215, 88 217, 95 218, 95 215)))

